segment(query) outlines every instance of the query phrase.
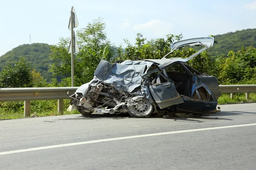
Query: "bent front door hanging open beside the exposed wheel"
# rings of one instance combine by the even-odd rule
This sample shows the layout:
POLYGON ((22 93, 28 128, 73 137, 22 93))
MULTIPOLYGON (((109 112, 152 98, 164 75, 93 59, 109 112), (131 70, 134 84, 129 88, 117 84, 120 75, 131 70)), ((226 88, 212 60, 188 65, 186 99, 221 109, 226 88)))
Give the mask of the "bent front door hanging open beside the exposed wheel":
POLYGON ((166 77, 159 70, 151 71, 148 74, 143 75, 143 77, 150 77, 150 74, 155 76, 155 81, 151 81, 153 83, 150 83, 149 85, 149 92, 160 109, 183 103, 183 100, 175 89, 174 82, 171 79, 166 77))

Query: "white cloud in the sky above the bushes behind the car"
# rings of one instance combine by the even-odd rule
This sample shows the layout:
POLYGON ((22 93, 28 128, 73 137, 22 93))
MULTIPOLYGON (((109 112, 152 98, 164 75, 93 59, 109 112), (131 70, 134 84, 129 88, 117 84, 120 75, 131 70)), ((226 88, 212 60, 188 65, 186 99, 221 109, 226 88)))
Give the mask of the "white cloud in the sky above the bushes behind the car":
POLYGON ((133 26, 134 30, 151 31, 154 35, 160 36, 170 32, 171 24, 164 23, 161 20, 151 20, 147 23, 137 24, 133 26))

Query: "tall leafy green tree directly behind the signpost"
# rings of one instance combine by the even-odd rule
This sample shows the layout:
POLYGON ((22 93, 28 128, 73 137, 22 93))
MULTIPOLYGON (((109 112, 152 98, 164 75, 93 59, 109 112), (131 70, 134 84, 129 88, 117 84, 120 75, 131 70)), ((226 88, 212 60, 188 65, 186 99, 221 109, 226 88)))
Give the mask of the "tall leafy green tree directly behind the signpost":
MULTIPOLYGON (((77 31, 79 53, 74 57, 76 86, 93 78, 93 73, 101 59, 111 61, 121 53, 121 47, 116 47, 107 39, 105 26, 106 24, 99 18, 77 31)), ((71 86, 71 55, 67 52, 69 40, 69 38, 61 38, 57 45, 51 47, 50 58, 53 61, 51 70, 55 79, 61 78, 61 86, 71 86)))

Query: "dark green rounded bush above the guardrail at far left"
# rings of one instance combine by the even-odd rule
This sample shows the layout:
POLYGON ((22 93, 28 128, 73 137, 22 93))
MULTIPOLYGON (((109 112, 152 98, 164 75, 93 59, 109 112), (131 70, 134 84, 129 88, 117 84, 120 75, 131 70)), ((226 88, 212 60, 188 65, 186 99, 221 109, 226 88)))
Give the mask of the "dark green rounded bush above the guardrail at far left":
POLYGON ((14 66, 7 65, 0 72, 1 88, 28 88, 32 87, 32 73, 29 63, 20 59, 14 66))

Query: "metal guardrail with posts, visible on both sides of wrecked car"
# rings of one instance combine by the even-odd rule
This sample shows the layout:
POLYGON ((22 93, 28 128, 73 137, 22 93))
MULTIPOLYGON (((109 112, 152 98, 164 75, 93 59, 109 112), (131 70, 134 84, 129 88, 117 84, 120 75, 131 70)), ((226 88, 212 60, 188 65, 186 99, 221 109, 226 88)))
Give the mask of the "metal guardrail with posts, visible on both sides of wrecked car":
MULTIPOLYGON (((30 101, 58 99, 58 113, 63 112, 63 99, 70 99, 78 87, 60 88, 0 88, 0 102, 24 101, 24 116, 30 116, 30 101)), ((221 94, 229 94, 233 98, 235 93, 256 92, 256 85, 219 85, 221 94)))

